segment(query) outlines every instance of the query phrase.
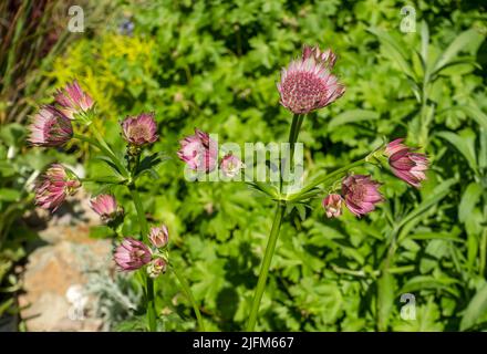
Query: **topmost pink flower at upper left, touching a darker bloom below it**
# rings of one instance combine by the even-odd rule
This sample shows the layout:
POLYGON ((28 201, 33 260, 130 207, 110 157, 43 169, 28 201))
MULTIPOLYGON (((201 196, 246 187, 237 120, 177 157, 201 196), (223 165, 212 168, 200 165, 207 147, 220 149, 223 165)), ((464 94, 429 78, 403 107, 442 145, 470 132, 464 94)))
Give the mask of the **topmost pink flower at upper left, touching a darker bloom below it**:
POLYGON ((60 111, 70 119, 74 119, 76 114, 90 111, 94 105, 92 97, 81 90, 76 80, 63 90, 58 90, 55 102, 60 105, 60 111))

